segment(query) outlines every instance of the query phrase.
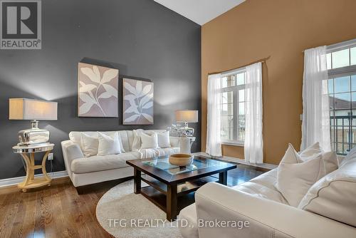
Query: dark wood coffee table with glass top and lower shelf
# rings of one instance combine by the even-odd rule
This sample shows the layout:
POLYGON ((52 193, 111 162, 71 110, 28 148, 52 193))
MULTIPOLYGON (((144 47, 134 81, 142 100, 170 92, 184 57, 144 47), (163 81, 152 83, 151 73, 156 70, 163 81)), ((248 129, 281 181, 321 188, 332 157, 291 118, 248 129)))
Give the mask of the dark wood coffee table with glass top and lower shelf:
POLYGON ((169 156, 126 162, 134 168, 135 194, 142 194, 166 212, 169 221, 194 202, 194 191, 199 187, 206 182, 226 185, 227 171, 236 168, 234 164, 205 156, 194 156, 192 165, 186 167, 169 164, 169 156), (218 173, 219 179, 211 176, 218 173), (149 186, 141 187, 141 181, 149 186))

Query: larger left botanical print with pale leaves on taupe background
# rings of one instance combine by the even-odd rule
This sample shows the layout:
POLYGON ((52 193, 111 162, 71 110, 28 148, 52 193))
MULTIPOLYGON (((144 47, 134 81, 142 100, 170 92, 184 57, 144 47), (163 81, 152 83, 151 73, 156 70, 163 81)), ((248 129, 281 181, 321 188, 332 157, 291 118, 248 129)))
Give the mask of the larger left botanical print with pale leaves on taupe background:
POLYGON ((93 118, 118 117, 119 70, 78 64, 78 116, 93 118))

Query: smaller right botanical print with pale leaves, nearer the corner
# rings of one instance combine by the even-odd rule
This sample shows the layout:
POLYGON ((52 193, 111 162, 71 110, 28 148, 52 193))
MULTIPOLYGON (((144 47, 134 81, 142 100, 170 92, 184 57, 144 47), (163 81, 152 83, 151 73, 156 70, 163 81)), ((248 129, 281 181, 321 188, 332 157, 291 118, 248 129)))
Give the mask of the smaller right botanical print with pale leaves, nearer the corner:
POLYGON ((153 83, 122 79, 122 124, 153 124, 153 83))

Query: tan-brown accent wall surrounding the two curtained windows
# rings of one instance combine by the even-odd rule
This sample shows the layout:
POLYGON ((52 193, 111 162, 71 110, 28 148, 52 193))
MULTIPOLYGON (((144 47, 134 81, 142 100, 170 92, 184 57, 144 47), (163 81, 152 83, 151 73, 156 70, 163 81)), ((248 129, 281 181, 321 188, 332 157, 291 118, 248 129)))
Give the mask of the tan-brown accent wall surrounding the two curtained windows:
MULTIPOLYGON (((356 38, 355 0, 247 0, 201 28, 201 150, 208 73, 263 63, 264 162, 300 147, 303 50, 356 38)), ((244 148, 223 145, 244 158, 244 148)))

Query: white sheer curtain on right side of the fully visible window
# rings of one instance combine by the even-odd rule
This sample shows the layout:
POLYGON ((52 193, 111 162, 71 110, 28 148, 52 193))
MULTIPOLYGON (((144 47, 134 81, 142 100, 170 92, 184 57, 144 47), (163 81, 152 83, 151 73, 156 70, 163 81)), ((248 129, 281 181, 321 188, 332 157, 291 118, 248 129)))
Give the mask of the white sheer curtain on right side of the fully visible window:
POLYGON ((245 160, 263 162, 262 138, 262 63, 246 66, 245 86, 245 160))

